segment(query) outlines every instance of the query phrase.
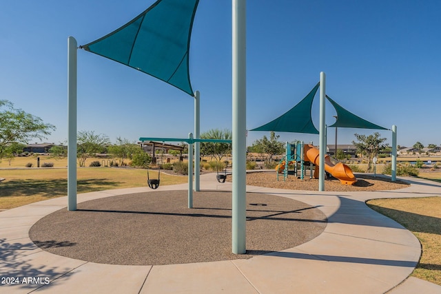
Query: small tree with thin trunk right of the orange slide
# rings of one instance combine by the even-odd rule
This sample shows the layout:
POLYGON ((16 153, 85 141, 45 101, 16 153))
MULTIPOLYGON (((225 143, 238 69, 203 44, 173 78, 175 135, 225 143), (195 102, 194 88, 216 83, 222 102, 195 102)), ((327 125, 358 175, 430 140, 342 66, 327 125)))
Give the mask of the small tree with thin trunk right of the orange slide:
POLYGON ((358 142, 352 141, 352 144, 355 145, 359 154, 367 157, 366 172, 369 173, 371 171, 372 158, 377 156, 378 151, 388 147, 388 144, 383 144, 387 138, 381 138, 378 132, 369 136, 359 134, 354 134, 354 136, 356 136, 358 142))

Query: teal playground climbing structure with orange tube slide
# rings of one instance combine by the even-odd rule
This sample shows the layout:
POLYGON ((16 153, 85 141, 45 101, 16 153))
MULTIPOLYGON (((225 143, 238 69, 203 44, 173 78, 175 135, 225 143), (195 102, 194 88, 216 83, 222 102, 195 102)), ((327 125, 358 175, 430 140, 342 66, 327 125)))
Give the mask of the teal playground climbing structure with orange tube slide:
MULTIPOLYGON (((320 166, 319 150, 311 144, 304 144, 303 142, 296 142, 295 144, 286 143, 285 158, 280 160, 276 166, 277 180, 279 174, 283 174, 283 179, 286 180, 290 171, 289 167, 294 167, 294 175, 300 177, 301 180, 305 177, 305 165, 309 163, 309 170, 312 178, 312 166, 315 165, 314 178, 319 177, 320 166), (288 164, 286 163, 288 162, 288 164)), ((325 171, 334 178, 340 180, 343 185, 353 185, 357 182, 357 178, 353 175, 352 170, 342 162, 334 162, 330 156, 325 156, 325 171)))

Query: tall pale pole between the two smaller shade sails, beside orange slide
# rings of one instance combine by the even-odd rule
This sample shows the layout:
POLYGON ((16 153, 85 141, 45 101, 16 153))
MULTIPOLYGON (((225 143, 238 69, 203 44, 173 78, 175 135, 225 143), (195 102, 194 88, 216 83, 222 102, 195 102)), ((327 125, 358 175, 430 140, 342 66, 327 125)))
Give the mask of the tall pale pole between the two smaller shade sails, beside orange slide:
POLYGON ((318 191, 325 191, 325 154, 326 154, 326 125, 325 125, 325 72, 320 72, 320 138, 318 162, 318 191))

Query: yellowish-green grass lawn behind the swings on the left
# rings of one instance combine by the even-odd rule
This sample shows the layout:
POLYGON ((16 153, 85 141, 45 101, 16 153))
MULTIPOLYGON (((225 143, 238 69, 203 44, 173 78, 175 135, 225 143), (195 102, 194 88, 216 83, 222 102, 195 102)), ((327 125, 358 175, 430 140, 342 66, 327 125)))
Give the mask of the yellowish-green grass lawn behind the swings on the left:
MULTIPOLYGON (((157 178, 156 171, 150 174, 157 178)), ((68 195, 68 169, 0 169, 0 209, 68 195)), ((84 167, 77 169, 78 193, 147 187, 146 169, 84 167)), ((187 182, 187 176, 161 174, 161 185, 187 182)))

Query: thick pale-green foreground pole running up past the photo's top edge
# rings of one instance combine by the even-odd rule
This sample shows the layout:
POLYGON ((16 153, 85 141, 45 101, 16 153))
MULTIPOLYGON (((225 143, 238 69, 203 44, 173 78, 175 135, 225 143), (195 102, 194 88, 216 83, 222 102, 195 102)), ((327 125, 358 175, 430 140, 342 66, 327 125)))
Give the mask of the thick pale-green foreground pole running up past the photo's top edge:
POLYGON ((246 1, 232 0, 232 252, 246 252, 246 1))

